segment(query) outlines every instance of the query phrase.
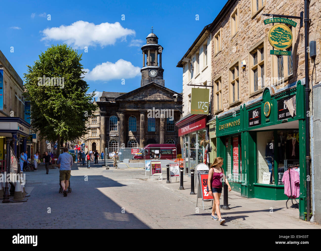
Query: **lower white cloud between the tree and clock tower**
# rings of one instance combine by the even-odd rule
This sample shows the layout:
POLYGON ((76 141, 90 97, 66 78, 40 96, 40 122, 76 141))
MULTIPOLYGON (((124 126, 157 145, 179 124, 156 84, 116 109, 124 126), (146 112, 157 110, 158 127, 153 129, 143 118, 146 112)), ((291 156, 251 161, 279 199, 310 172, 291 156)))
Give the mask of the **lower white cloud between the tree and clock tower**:
POLYGON ((106 62, 97 65, 91 71, 89 69, 84 69, 87 71, 85 74, 85 80, 112 80, 122 78, 133 78, 140 74, 140 67, 135 67, 131 62, 125 61, 124 59, 119 59, 116 63, 106 62))

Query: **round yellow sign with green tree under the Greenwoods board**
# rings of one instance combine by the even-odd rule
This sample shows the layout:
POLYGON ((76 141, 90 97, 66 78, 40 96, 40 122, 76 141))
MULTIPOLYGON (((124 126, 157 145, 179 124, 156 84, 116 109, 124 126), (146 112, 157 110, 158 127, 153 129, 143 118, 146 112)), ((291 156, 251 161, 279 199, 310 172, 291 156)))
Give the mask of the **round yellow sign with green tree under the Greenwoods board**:
POLYGON ((273 25, 269 31, 269 42, 275 49, 283 50, 289 48, 292 40, 292 31, 285 24, 273 25))

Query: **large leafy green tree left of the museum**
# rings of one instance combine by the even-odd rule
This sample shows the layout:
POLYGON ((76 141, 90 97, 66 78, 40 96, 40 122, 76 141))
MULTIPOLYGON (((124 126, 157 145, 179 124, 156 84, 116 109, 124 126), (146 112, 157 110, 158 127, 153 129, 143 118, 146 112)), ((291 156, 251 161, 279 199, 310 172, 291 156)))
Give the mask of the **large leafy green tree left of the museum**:
POLYGON ((33 66, 27 65, 24 74, 31 125, 40 137, 57 140, 58 149, 64 141, 86 134, 88 116, 97 109, 91 102, 95 93, 86 94, 89 86, 83 80, 81 57, 66 44, 52 45, 33 66))

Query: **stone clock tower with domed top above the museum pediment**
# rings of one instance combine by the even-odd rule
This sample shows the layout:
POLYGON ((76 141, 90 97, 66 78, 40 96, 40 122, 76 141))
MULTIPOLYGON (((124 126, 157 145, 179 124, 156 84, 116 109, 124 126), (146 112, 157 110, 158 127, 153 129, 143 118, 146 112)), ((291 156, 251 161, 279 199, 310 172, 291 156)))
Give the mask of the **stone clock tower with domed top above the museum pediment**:
POLYGON ((163 47, 158 44, 158 37, 153 33, 153 30, 146 40, 146 44, 142 46, 143 68, 141 69, 141 86, 151 82, 165 86, 165 80, 163 79, 164 69, 161 67, 163 47))

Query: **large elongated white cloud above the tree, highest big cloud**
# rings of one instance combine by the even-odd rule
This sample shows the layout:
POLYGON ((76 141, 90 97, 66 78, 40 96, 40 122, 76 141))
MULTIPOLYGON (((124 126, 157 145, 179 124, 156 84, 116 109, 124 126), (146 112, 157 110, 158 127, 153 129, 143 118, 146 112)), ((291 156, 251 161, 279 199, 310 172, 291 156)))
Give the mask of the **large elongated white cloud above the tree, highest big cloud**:
POLYGON ((136 34, 134 30, 123 28, 119 22, 95 25, 85 21, 77 21, 68 26, 47 28, 42 33, 44 37, 41 41, 61 40, 78 49, 97 44, 101 47, 113 45, 117 39, 126 40, 126 36, 136 34))

